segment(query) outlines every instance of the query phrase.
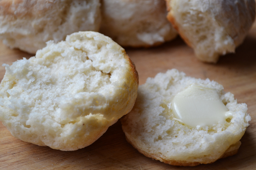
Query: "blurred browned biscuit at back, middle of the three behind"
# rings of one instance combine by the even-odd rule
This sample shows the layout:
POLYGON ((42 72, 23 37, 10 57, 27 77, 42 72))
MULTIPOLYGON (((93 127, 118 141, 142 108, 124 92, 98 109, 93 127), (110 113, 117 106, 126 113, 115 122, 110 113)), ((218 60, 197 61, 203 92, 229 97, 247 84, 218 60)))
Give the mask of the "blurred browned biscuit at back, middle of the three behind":
POLYGON ((100 32, 121 46, 150 47, 174 39, 162 0, 103 0, 100 32))

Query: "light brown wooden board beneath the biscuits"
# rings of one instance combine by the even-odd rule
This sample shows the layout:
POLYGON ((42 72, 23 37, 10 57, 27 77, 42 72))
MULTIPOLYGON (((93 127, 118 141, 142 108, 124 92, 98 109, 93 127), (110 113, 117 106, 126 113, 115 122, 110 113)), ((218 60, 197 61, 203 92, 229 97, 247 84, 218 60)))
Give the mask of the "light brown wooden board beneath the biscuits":
MULTIPOLYGON (((179 37, 159 47, 126 49, 139 73, 140 84, 158 72, 176 68, 187 75, 217 81, 248 105, 252 117, 242 137, 238 154, 196 167, 177 167, 140 154, 126 140, 118 121, 92 145, 77 151, 59 151, 14 138, 0 123, 0 169, 256 169, 256 24, 236 54, 220 58, 217 64, 198 61, 193 50, 179 37)), ((29 58, 0 43, 0 65, 29 58)), ((0 80, 5 73, 0 67, 0 80)))

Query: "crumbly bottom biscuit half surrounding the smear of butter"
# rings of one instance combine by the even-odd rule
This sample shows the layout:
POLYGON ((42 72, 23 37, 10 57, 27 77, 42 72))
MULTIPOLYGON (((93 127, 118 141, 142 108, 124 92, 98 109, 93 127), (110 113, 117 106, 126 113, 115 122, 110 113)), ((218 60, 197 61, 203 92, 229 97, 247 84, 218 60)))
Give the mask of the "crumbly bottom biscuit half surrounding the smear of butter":
MULTIPOLYGON (((202 95, 210 100, 206 96, 202 95)), ((132 111, 121 119, 126 139, 134 148, 147 157, 179 166, 208 164, 235 154, 250 120, 247 105, 238 104, 233 94, 223 91, 222 85, 209 79, 186 77, 176 69, 158 73, 139 86, 132 111), (196 127, 175 118, 173 99, 191 85, 214 90, 232 116, 212 126, 196 127)))

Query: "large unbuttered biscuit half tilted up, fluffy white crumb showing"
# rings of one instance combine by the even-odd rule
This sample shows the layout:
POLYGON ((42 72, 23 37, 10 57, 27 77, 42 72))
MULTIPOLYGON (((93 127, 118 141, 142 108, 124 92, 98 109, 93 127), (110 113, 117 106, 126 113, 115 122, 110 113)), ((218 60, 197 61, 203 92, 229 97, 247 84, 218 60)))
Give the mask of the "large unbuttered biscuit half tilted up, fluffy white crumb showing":
POLYGON ((130 112, 138 73, 125 50, 96 32, 79 32, 4 64, 0 120, 13 136, 63 151, 84 148, 130 112))

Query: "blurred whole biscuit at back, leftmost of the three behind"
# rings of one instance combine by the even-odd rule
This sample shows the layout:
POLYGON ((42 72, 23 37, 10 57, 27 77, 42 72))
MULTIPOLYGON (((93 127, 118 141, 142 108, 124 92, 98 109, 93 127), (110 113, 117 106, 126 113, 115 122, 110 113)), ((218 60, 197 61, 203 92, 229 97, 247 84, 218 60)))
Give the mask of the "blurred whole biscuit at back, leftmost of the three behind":
POLYGON ((71 33, 98 31, 99 0, 1 0, 0 39, 11 48, 35 54, 71 33))

